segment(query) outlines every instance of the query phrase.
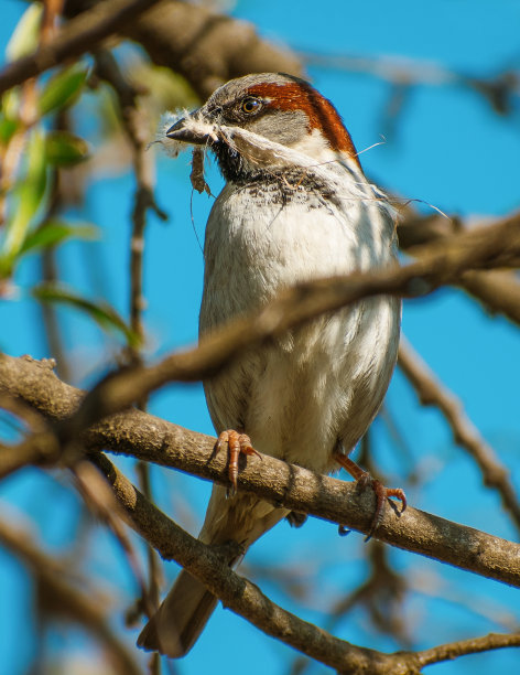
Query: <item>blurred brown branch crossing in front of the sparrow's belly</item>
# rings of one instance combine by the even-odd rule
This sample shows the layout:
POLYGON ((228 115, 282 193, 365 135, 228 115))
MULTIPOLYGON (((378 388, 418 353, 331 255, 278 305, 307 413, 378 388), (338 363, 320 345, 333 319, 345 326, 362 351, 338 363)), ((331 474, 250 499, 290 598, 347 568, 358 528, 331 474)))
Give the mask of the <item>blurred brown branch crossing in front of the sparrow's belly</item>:
POLYGON ((318 279, 281 292, 266 308, 239 318, 205 338, 198 347, 166 356, 149 367, 108 376, 85 398, 62 429, 62 438, 76 435, 101 417, 121 410, 169 382, 194 382, 217 373, 249 347, 258 349, 323 313, 381 293, 418 297, 441 285, 457 283, 468 269, 516 265, 520 258, 520 215, 487 227, 418 247, 418 260, 347 277, 318 279))

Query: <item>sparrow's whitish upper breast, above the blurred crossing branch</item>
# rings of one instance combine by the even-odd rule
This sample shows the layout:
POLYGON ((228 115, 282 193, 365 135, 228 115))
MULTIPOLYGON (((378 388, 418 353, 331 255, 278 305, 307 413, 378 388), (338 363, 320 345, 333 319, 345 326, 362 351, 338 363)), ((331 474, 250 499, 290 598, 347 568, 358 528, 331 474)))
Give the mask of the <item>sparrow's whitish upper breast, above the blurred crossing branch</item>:
POLYGON ((251 312, 299 281, 388 264, 391 236, 377 205, 359 196, 332 200, 279 181, 228 184, 206 228, 201 328, 251 312))

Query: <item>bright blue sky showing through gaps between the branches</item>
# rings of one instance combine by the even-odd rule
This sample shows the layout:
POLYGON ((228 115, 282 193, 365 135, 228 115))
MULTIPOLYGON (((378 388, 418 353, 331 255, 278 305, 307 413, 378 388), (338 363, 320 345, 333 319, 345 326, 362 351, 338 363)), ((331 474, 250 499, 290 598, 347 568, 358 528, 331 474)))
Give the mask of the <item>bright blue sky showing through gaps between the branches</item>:
MULTIPOLYGON (((24 3, 4 0, 0 44, 4 45, 24 3)), ((505 68, 519 67, 518 26, 520 4, 499 0, 443 0, 371 2, 331 1, 316 8, 314 2, 280 3, 275 0, 237 2, 235 17, 252 21, 261 35, 303 52, 353 54, 415 63, 455 71, 468 76, 492 76, 505 68)), ((331 98, 343 115, 358 150, 380 141, 384 132, 383 110, 391 85, 366 74, 310 67, 315 86, 331 98)), ((386 189, 403 199, 420 200, 421 210, 432 204, 446 213, 486 217, 508 213, 519 205, 518 157, 520 126, 517 109, 512 117, 499 118, 484 99, 468 88, 451 84, 418 84, 410 93, 398 127, 387 142, 361 156, 365 171, 386 189)), ((96 140, 89 139, 96 150, 96 140)), ((220 179, 213 169, 209 183, 217 192, 220 179)), ((98 292, 108 289, 108 300, 126 312, 128 287, 128 214, 132 178, 107 175, 90 185, 86 206, 78 217, 102 228, 104 238, 91 245, 90 258, 72 243, 61 253, 64 278, 75 288, 93 293, 89 260, 102 269, 98 292)), ((172 215, 167 225, 151 218, 147 238, 145 294, 150 353, 159 354, 196 340, 203 260, 192 227, 187 156, 176 161, 158 157, 158 201, 172 215)), ((212 202, 206 195, 193 200, 194 227, 204 237, 204 224, 212 202)), ((26 299, 25 289, 37 274, 35 260, 20 270, 17 283, 20 300, 0 306, 1 347, 10 354, 46 356, 39 330, 39 309, 26 299)), ((77 384, 93 382, 115 353, 113 343, 76 313, 64 317, 67 344, 83 376, 77 384)), ((519 333, 506 320, 489 319, 479 306, 462 292, 442 290, 435 296, 404 304, 403 330, 442 381, 464 400, 464 405, 486 439, 511 468, 516 484, 520 479, 518 446, 520 415, 519 333)), ((456 448, 449 430, 435 410, 421 409, 413 393, 398 373, 390 387, 388 410, 407 440, 413 465, 424 479, 421 488, 409 486, 410 502, 449 519, 485 529, 498 536, 517 538, 501 513, 497 497, 481 489, 481 480, 464 451, 456 448)), ((151 410, 186 427, 213 432, 201 386, 170 387, 152 400, 151 410)), ((391 443, 384 424, 375 425, 375 453, 392 484, 403 484, 409 464, 391 443)), ((129 462, 122 465, 131 472, 129 462)), ((162 506, 178 517, 180 500, 189 504, 201 521, 209 486, 175 472, 154 470, 154 489, 162 506), (181 495, 181 496, 178 496, 181 495)), ((29 514, 42 539, 52 550, 65 550, 77 527, 78 501, 68 480, 58 474, 45 478, 26 470, 0 485, 0 497, 29 514), (32 501, 39 491, 37 506, 32 501), (43 506, 42 506, 43 504, 43 506)), ((4 503, 4 502, 2 502, 4 503)), ((196 524, 194 524, 196 529, 196 524)), ((100 528, 96 546, 86 562, 100 578, 120 580, 130 602, 136 592, 117 547, 100 528)), ((275 559, 308 574, 314 592, 303 608, 270 581, 261 581, 268 594, 305 619, 323 623, 323 609, 345 589, 365 578, 361 537, 338 538, 331 524, 310 521, 304 528, 290 529, 282 523, 250 551, 258 565, 275 559)), ((404 570, 416 589, 410 596, 405 619, 415 626, 414 646, 432 646, 454 638, 468 638, 502 630, 474 610, 457 609, 452 598, 468 598, 479 609, 503 607, 520 621, 518 591, 443 567, 436 562, 391 553, 392 562, 404 570), (420 592, 421 589, 424 591, 420 592), (437 589, 437 598, 430 598, 437 589), (464 628, 461 628, 464 626, 464 628)), ((166 574, 173 577, 175 566, 166 574)), ((13 675, 24 672, 35 649, 30 612, 28 578, 12 559, 0 551, 0 658, 13 675), (20 600, 22 598, 22 601, 20 600), (17 636, 17 639, 14 638, 17 636), (23 650, 20 650, 22 641, 23 650)), ((115 608, 115 625, 121 611, 115 608)), ((376 649, 399 649, 392 640, 375 635, 367 615, 358 610, 342 621, 336 634, 376 649)), ((137 635, 137 632, 136 632, 137 635)), ((134 636, 129 635, 129 642, 134 636)), ((80 635, 55 631, 53 650, 66 645, 75 654, 93 654, 93 645, 80 635)), ((293 653, 258 633, 231 612, 218 609, 189 656, 178 665, 182 675, 207 668, 215 673, 243 669, 249 675, 288 672, 293 653), (229 646, 234 658, 229 664, 229 646), (210 661, 208 657, 210 654, 210 661), (254 654, 254 658, 250 655, 254 654)), ((432 673, 513 672, 520 657, 512 650, 484 654, 433 666, 432 673)), ((323 671, 323 668, 322 668, 323 671)), ((313 673, 321 672, 314 668, 313 673)))

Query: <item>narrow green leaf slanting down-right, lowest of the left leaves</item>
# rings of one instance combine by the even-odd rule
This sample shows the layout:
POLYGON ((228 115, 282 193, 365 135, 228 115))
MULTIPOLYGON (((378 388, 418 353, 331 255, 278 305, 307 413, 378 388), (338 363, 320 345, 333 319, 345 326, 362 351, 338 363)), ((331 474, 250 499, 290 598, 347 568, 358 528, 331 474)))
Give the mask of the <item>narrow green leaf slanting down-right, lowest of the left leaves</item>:
POLYGON ((124 336, 130 346, 139 346, 139 336, 108 302, 87 300, 59 283, 51 282, 40 283, 31 290, 31 293, 41 302, 55 302, 74 307, 87 313, 102 330, 116 330, 124 336))

